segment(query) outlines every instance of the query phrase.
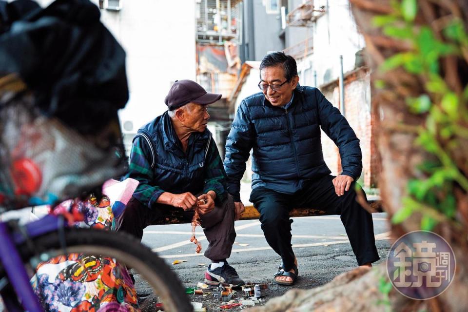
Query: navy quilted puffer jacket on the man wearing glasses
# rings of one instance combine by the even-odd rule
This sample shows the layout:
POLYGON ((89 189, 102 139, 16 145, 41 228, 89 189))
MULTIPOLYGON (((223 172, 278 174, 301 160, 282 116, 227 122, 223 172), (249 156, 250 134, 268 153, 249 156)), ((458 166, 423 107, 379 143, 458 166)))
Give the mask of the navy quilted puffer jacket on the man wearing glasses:
POLYGON ((240 200, 240 179, 252 149, 253 189, 263 185, 293 194, 304 181, 329 175, 319 126, 339 148, 342 174, 357 179, 362 171, 359 139, 317 88, 297 86, 288 110, 271 105, 261 92, 245 98, 226 143, 224 167, 229 193, 240 200))

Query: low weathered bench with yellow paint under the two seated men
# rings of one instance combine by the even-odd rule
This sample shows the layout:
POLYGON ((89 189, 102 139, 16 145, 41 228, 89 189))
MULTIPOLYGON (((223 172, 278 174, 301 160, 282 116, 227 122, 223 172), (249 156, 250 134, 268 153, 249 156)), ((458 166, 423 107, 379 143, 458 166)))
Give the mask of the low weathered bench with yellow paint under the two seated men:
MULTIPOLYGON (((369 200, 370 207, 373 209, 375 213, 381 213, 382 204, 380 200, 369 200)), ((316 215, 330 215, 327 214, 325 211, 313 208, 294 208, 289 213, 290 217, 298 217, 298 216, 316 216, 316 215)), ((260 214, 254 208, 254 206, 245 206, 245 211, 240 216, 240 220, 253 220, 258 219, 260 214)), ((179 210, 170 211, 167 215, 156 219, 153 221, 152 225, 163 225, 163 224, 179 224, 179 223, 190 223, 186 217, 184 217, 179 210)))

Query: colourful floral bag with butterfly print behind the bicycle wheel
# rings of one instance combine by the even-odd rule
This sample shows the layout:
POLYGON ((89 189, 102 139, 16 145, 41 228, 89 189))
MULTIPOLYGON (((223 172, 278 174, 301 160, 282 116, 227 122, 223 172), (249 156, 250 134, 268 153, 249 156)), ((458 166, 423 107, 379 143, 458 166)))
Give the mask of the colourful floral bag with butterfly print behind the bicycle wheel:
MULTIPOLYGON (((83 220, 75 227, 117 230, 138 182, 107 181, 100 201, 67 200, 54 209, 69 212, 78 205, 83 220)), ((139 311, 137 293, 125 266, 100 255, 67 254, 40 263, 31 280, 45 311, 139 311)))

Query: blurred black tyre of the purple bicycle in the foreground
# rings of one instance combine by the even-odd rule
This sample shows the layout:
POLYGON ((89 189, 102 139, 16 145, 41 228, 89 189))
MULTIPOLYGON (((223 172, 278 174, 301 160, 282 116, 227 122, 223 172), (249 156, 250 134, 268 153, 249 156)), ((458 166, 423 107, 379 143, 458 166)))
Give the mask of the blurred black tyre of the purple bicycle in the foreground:
MULTIPOLYGON (((164 311, 193 311, 176 274, 164 260, 133 236, 85 228, 66 228, 63 233, 59 235, 53 232, 33 238, 34 250, 31 244, 18 246, 26 266, 34 267, 39 259, 44 261, 46 258, 72 253, 115 258, 120 264, 131 267, 132 271, 137 273, 136 284, 143 279, 153 288, 164 311), (63 244, 66 246, 65 251, 63 244)), ((155 309, 153 311, 157 311, 154 306, 152 308, 155 309)))

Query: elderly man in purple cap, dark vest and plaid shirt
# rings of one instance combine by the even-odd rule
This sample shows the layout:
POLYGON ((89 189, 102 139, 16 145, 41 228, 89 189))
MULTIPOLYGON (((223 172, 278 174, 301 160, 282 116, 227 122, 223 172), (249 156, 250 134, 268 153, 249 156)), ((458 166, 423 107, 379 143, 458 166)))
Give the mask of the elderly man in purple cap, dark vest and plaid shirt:
POLYGON ((171 210, 191 220, 198 200, 200 223, 211 259, 205 283, 244 282, 226 261, 235 239, 234 201, 226 191, 226 173, 212 134, 207 129, 208 104, 221 95, 207 93, 192 80, 179 80, 165 102, 168 111, 138 130, 128 176, 140 184, 127 205, 121 231, 141 239, 143 229, 171 210))

